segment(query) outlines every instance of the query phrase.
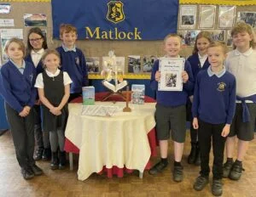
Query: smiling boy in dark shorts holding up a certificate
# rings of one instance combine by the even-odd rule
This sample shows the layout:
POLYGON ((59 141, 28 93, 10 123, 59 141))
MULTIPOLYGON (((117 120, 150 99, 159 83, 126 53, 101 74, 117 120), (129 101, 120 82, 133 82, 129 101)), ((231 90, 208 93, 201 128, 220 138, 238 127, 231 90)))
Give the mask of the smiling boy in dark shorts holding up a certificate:
MULTIPOLYGON (((169 34, 164 40, 164 50, 167 58, 179 58, 181 51, 181 37, 177 34, 169 34)), ((150 86, 156 90, 156 133, 160 144, 161 160, 155 164, 149 174, 156 175, 162 172, 168 165, 168 139, 170 129, 172 130, 172 140, 174 141, 174 168, 173 180, 181 182, 183 180, 183 166, 181 160, 183 156, 183 145, 186 137, 186 103, 188 93, 194 88, 194 78, 189 61, 185 61, 182 73, 182 91, 159 91, 158 82, 160 81, 159 61, 154 62, 151 74, 150 86)))

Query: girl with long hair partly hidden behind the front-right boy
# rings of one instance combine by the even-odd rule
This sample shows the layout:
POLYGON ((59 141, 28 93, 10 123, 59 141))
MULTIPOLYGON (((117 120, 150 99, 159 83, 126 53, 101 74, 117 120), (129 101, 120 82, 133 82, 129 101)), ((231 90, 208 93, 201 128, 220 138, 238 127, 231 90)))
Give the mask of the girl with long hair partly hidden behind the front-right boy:
MULTIPOLYGON (((191 69, 193 72, 194 79, 200 70, 207 70, 210 63, 207 57, 207 48, 209 44, 212 42, 211 33, 208 31, 201 31, 197 37, 195 38, 195 47, 193 50, 193 54, 189 56, 189 63, 191 65, 191 69)), ((200 166, 201 157, 200 157, 200 149, 198 143, 197 131, 192 126, 192 112, 191 106, 193 102, 193 93, 190 93, 188 104, 187 104, 187 121, 190 121, 190 140, 191 140, 191 151, 188 156, 188 163, 195 164, 195 166, 200 166)))

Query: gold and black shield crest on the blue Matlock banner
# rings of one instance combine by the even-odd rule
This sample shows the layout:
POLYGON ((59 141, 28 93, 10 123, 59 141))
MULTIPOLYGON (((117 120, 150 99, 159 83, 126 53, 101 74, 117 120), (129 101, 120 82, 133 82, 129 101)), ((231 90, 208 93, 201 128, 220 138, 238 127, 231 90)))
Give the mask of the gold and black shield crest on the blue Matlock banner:
POLYGON ((113 23, 119 23, 125 20, 124 4, 120 1, 111 1, 108 3, 107 19, 113 23))

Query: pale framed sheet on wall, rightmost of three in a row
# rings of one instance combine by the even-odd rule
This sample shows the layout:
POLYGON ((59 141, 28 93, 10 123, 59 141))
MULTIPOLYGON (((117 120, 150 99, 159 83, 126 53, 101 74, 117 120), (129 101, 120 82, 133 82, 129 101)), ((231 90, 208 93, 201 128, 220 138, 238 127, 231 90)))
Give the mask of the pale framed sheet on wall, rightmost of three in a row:
POLYGON ((218 28, 232 28, 236 17, 236 6, 219 6, 218 28))

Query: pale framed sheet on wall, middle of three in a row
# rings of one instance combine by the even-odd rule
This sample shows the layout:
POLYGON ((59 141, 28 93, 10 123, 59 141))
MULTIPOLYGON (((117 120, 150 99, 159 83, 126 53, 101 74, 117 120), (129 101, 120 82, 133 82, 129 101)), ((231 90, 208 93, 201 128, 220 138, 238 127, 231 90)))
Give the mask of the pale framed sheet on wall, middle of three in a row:
POLYGON ((216 6, 201 5, 199 14, 199 28, 213 29, 215 24, 216 6))

